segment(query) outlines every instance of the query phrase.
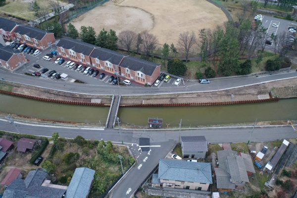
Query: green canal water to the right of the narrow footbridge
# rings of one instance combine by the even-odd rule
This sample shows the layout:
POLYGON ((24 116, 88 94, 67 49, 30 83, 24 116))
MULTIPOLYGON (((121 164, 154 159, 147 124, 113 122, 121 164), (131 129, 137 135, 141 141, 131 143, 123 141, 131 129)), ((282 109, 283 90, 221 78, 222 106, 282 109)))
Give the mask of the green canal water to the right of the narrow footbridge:
POLYGON ((297 99, 222 106, 122 107, 118 117, 123 124, 136 126, 148 126, 148 117, 163 118, 163 128, 178 127, 181 119, 182 127, 296 120, 297 99))

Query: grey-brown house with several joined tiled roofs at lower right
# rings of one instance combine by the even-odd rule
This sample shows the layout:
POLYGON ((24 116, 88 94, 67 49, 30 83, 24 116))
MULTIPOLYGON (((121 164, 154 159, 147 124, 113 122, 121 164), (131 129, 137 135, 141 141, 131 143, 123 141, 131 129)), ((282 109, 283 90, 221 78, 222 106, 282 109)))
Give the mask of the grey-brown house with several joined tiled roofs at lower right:
POLYGON ((217 189, 220 192, 241 190, 248 176, 255 173, 251 157, 233 150, 217 151, 219 167, 215 167, 217 189))

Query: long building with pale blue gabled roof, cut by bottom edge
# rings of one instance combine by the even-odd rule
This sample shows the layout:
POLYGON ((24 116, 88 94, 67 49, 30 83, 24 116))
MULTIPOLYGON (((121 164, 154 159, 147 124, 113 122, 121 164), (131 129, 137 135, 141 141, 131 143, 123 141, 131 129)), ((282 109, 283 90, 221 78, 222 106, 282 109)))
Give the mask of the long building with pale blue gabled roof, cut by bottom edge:
POLYGON ((65 198, 87 198, 94 180, 95 170, 81 167, 76 168, 65 198))

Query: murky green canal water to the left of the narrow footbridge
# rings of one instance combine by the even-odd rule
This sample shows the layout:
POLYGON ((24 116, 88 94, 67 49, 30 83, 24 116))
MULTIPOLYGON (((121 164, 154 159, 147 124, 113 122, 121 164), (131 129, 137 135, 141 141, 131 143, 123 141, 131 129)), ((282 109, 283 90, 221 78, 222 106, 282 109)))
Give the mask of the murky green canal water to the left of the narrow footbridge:
POLYGON ((43 102, 0 94, 0 112, 56 121, 105 125, 109 107, 43 102))

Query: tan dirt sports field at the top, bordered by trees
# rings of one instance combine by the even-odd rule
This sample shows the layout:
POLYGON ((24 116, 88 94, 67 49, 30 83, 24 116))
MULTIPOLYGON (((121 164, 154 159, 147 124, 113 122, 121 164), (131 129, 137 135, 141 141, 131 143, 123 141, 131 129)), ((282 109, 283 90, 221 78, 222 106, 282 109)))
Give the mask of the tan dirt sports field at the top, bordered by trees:
POLYGON ((93 26, 97 33, 102 28, 117 33, 148 30, 159 44, 177 44, 184 31, 198 32, 214 28, 227 21, 220 8, 206 0, 114 0, 79 16, 71 23, 79 29, 82 25, 93 26))

